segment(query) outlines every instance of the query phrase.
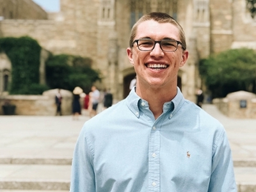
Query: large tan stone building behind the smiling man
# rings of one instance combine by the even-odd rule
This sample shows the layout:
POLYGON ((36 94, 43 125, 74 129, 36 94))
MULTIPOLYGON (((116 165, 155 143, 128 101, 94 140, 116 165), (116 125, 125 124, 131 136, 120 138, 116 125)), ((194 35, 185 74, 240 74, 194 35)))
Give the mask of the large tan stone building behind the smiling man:
MULTIPOLYGON (((102 72, 100 88, 110 89, 115 100, 127 95, 135 76, 125 49, 132 25, 144 13, 170 13, 184 28, 189 59, 180 68, 178 85, 192 101, 201 86, 200 58, 230 48, 256 49, 256 19, 246 0, 60 0, 60 12, 47 13, 47 18, 31 0, 0 0, 0 4, 7 1, 13 4, 2 6, 0 16, 10 13, 13 6, 18 8, 18 2, 31 5, 30 16, 21 14, 28 12, 28 7, 19 4, 15 10, 20 14, 13 10, 1 17, 0 36, 28 35, 53 54, 92 58, 93 68, 102 72)), ((0 82, 4 81, 3 70, 0 63, 0 82)))

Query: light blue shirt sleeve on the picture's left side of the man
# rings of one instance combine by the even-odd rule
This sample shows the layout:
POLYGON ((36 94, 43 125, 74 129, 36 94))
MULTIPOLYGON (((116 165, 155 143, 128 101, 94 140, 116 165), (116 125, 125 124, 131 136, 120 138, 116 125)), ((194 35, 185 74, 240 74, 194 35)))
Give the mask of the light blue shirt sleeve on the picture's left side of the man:
POLYGON ((92 151, 88 147, 82 130, 72 160, 70 192, 95 192, 95 174, 92 162, 92 151))

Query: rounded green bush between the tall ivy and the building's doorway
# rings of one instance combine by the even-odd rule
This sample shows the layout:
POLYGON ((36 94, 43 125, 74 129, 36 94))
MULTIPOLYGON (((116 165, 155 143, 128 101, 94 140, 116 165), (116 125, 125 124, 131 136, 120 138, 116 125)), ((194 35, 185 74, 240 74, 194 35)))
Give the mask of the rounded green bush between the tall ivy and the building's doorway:
POLYGON ((74 90, 80 86, 84 92, 100 80, 100 73, 91 68, 92 60, 80 56, 60 54, 51 56, 46 62, 46 79, 51 88, 74 90))

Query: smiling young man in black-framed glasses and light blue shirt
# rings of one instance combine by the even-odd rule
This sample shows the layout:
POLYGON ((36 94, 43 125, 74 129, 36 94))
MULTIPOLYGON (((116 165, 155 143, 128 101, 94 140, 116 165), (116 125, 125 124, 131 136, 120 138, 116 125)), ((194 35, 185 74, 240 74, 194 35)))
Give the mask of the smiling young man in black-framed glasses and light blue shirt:
POLYGON ((225 129, 177 88, 188 59, 182 27, 165 13, 132 28, 128 97, 84 124, 70 191, 236 191, 225 129))

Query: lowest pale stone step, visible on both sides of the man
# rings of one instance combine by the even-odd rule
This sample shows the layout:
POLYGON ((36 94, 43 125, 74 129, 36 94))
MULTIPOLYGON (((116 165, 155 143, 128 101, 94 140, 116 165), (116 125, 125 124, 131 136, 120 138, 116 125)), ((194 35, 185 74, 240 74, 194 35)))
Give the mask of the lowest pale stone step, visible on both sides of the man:
MULTIPOLYGON (((71 165, 0 164, 0 170, 0 192, 56 192, 70 188, 71 165)), ((237 192, 256 191, 256 167, 235 167, 234 171, 237 192)))

